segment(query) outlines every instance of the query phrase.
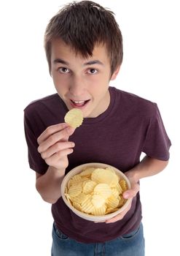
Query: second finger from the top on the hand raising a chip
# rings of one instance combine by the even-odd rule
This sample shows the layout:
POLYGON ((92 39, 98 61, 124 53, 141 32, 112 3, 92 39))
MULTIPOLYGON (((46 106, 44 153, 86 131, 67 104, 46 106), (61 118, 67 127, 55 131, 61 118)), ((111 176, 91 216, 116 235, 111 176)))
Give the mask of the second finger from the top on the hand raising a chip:
POLYGON ((69 136, 74 132, 74 128, 66 127, 65 129, 62 129, 60 132, 56 132, 52 135, 50 135, 47 140, 43 141, 39 147, 38 151, 41 154, 42 152, 46 151, 47 148, 50 148, 52 145, 57 143, 60 140, 66 141, 69 136))

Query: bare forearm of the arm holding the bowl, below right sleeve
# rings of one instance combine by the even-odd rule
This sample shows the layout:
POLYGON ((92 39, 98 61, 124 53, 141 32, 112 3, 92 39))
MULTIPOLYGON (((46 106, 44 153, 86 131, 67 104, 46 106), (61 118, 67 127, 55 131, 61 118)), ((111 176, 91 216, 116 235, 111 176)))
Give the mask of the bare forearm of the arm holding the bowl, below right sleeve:
POLYGON ((139 181, 141 178, 154 176, 160 173, 168 165, 168 161, 161 161, 151 157, 144 157, 141 162, 128 170, 126 174, 132 177, 134 180, 139 181))

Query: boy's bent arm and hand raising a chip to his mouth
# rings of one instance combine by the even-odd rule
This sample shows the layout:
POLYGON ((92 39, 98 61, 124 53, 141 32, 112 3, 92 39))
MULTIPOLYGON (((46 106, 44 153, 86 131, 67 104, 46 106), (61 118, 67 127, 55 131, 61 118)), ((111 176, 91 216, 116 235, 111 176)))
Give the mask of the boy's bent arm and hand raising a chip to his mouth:
POLYGON ((67 124, 56 124, 45 129, 37 139, 38 151, 49 167, 43 175, 36 173, 36 189, 47 203, 55 203, 60 197, 60 184, 69 165, 68 155, 74 147, 69 136, 74 130, 67 124))

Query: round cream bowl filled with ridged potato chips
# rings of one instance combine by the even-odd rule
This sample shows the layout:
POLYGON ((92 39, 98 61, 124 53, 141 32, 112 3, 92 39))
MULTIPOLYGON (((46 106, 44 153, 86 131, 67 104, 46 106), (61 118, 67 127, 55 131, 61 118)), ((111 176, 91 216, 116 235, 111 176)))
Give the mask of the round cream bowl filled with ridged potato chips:
POLYGON ((130 189, 127 176, 117 168, 98 162, 79 165, 61 184, 61 195, 71 211, 83 219, 103 222, 120 214, 130 203, 122 197, 130 189))

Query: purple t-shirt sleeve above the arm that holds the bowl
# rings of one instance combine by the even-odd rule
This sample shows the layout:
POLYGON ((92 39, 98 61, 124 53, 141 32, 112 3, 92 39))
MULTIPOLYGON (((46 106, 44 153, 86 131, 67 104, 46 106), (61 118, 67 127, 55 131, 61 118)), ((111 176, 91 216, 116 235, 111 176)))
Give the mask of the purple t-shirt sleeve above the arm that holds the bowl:
POLYGON ((167 161, 169 159, 171 140, 165 131, 160 110, 156 104, 154 106, 154 115, 149 120, 149 127, 142 151, 149 157, 167 161))

